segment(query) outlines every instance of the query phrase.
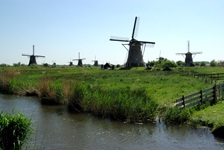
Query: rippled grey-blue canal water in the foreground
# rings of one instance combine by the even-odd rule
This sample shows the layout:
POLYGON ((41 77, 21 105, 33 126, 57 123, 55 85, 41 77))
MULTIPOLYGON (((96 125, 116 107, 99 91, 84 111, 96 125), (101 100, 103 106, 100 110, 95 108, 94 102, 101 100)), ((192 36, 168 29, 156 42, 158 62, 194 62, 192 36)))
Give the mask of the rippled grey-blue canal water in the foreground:
POLYGON ((224 149, 224 140, 207 128, 126 124, 88 114, 71 114, 65 106, 43 106, 38 99, 0 95, 0 111, 21 112, 33 121, 26 149, 224 149))

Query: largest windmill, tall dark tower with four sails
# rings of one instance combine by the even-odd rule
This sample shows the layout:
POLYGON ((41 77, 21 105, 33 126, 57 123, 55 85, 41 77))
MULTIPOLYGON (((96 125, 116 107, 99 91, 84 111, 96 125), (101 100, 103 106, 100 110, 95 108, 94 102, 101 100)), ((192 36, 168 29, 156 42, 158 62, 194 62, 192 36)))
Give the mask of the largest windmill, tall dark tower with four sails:
POLYGON ((131 40, 110 38, 110 41, 128 42, 128 44, 122 44, 124 47, 125 45, 129 45, 129 49, 125 47, 128 50, 125 68, 144 66, 142 48, 145 50, 146 44, 155 44, 155 42, 139 41, 135 39, 137 21, 138 18, 135 17, 131 40))

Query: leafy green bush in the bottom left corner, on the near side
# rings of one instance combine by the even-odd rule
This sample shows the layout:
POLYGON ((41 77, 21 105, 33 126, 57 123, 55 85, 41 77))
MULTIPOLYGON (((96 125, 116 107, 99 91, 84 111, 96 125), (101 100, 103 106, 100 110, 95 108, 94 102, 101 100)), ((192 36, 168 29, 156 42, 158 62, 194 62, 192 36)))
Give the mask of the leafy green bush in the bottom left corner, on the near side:
POLYGON ((0 149, 22 149, 31 134, 31 120, 22 114, 0 114, 0 149))

